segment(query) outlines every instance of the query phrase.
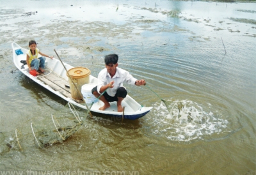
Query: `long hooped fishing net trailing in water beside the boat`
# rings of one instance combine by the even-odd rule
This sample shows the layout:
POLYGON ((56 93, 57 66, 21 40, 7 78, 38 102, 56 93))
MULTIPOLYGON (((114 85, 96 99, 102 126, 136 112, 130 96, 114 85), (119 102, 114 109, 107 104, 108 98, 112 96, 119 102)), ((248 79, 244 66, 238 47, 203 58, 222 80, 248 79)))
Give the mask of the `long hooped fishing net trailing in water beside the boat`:
POLYGON ((0 155, 10 150, 28 148, 28 142, 33 141, 33 138, 39 148, 66 141, 83 126, 92 104, 87 105, 89 110, 68 102, 65 107, 56 110, 55 114, 43 119, 34 118, 33 122, 24 121, 24 125, 15 131, 0 132, 0 155), (29 123, 30 127, 27 127, 29 123))

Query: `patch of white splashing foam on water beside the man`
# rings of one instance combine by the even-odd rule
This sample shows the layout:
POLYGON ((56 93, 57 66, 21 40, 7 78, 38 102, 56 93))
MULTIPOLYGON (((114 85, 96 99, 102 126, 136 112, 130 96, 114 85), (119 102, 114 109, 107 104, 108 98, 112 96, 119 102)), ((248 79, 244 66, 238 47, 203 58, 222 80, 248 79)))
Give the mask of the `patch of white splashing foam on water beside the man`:
POLYGON ((211 103, 205 103, 204 108, 191 100, 176 100, 170 102, 168 112, 163 103, 156 103, 152 132, 172 141, 204 139, 205 135, 227 132, 227 119, 211 103))

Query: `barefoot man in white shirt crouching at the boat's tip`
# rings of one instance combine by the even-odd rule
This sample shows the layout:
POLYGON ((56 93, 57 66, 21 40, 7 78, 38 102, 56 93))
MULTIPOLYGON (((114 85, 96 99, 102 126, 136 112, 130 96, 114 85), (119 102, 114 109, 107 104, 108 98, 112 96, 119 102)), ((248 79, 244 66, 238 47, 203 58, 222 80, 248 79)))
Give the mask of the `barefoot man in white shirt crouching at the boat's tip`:
POLYGON ((106 93, 99 98, 104 103, 99 110, 109 108, 109 102, 117 102, 117 110, 118 112, 122 112, 121 103, 127 95, 127 91, 123 87, 123 82, 136 86, 145 85, 146 82, 143 79, 137 80, 126 70, 118 68, 118 55, 116 54, 105 56, 104 61, 106 68, 100 71, 98 85, 92 89, 92 94, 98 98, 106 90, 106 93))

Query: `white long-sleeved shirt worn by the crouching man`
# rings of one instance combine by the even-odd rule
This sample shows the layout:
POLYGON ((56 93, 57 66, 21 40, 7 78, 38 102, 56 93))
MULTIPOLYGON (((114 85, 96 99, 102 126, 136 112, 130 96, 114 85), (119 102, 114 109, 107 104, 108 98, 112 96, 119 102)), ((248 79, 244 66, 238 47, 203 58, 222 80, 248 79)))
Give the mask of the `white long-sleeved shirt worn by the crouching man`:
POLYGON ((108 88, 107 93, 109 96, 115 96, 116 91, 118 88, 123 87, 123 82, 127 84, 133 84, 135 85, 135 82, 137 79, 132 77, 132 75, 127 72, 126 70, 123 70, 122 68, 116 67, 116 74, 111 78, 111 75, 108 73, 107 68, 104 68, 103 70, 100 71, 98 75, 98 86, 97 86, 97 91, 100 94, 100 88, 102 86, 105 86, 109 84, 111 81, 115 81, 113 84, 113 88, 108 88))

